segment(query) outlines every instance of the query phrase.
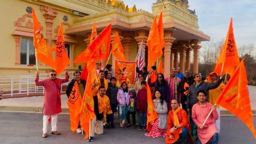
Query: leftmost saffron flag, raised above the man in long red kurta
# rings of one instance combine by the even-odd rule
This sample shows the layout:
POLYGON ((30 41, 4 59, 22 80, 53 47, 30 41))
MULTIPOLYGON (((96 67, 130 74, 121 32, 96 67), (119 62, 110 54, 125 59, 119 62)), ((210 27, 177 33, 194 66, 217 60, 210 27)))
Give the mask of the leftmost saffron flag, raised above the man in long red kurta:
POLYGON ((36 59, 50 67, 54 67, 55 62, 51 56, 50 49, 48 49, 46 45, 46 42, 43 36, 43 30, 40 26, 40 23, 37 20, 37 16, 35 14, 34 8, 32 8, 32 15, 33 15, 34 47, 35 47, 36 59))

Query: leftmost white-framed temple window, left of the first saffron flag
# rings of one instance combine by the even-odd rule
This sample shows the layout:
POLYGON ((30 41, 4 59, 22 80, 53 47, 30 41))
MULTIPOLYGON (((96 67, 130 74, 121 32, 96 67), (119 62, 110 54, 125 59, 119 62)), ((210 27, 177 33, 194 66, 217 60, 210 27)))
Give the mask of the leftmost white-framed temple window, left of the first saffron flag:
POLYGON ((35 49, 33 39, 21 37, 20 41, 20 65, 35 65, 35 49))

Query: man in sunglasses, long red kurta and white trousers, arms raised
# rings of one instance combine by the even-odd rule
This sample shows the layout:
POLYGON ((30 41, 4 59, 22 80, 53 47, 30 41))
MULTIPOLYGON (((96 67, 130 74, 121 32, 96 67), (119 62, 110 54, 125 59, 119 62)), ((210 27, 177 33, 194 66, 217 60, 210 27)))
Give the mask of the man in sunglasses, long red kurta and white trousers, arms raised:
POLYGON ((67 70, 65 71, 65 78, 60 79, 57 77, 57 72, 51 70, 49 73, 49 78, 44 80, 39 80, 39 71, 36 71, 35 84, 36 86, 43 86, 45 90, 44 94, 44 106, 43 106, 43 135, 42 137, 47 137, 47 124, 51 117, 51 134, 60 135, 57 131, 57 117, 61 112, 61 84, 68 82, 69 75, 67 70))

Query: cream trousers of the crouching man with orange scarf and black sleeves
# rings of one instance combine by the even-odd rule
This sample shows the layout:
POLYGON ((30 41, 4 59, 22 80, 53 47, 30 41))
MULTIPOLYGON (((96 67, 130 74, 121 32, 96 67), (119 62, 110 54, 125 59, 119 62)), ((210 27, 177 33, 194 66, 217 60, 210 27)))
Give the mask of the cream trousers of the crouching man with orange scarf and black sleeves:
POLYGON ((96 120, 96 117, 91 120, 90 136, 94 137, 94 134, 103 134, 103 121, 96 120))

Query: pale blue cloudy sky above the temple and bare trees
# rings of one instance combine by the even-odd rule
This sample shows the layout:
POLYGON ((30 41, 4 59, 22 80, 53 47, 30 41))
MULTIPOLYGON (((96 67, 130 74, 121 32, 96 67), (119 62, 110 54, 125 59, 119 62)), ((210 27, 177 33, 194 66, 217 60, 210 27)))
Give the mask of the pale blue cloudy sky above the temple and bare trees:
MULTIPOLYGON (((157 0, 123 0, 125 5, 136 5, 137 10, 152 12, 157 0)), ((256 0, 189 0, 189 9, 198 16, 199 30, 211 37, 211 41, 224 40, 233 18, 236 44, 254 44, 256 48, 256 0)))

